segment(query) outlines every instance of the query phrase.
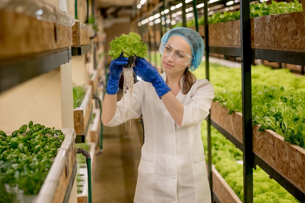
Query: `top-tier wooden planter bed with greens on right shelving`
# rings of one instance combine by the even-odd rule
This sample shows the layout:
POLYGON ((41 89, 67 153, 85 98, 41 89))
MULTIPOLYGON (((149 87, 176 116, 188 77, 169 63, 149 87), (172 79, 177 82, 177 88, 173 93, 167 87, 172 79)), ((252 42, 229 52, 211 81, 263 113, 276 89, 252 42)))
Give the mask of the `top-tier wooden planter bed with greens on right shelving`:
MULTIPOLYGON (((297 0, 290 3, 271 1, 269 5, 266 2, 251 4, 251 48, 305 53, 304 17, 301 11, 302 5, 297 0)), ((240 47, 239 18, 239 11, 218 12, 208 17, 209 45, 240 47)), ((203 18, 198 21, 203 24, 203 18)), ((191 28, 195 29, 193 25, 191 28)), ((198 32, 202 36, 205 35, 204 30, 204 26, 200 25, 198 32)))

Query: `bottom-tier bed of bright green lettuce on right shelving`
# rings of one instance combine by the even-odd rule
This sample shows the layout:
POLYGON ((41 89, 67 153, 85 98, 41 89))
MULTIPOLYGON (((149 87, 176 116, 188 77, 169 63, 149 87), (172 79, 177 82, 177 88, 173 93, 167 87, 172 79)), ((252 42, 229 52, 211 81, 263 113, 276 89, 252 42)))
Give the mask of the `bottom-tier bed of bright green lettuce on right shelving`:
MULTIPOLYGON (((201 133, 207 155, 206 121, 202 123, 201 133)), ((243 152, 213 127, 211 127, 211 152, 213 194, 221 203, 242 203, 244 195, 243 152), (222 179, 224 180, 222 181, 222 179)), ((259 166, 253 170, 253 202, 299 203, 259 166)))

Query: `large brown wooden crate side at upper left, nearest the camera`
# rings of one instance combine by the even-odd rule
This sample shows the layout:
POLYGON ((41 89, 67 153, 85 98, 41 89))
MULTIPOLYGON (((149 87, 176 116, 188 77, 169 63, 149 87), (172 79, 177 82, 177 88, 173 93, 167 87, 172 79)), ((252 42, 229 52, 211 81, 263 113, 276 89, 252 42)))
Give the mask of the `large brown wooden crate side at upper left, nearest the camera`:
POLYGON ((73 45, 72 26, 24 14, 0 10, 0 28, 0 60, 55 52, 73 45))

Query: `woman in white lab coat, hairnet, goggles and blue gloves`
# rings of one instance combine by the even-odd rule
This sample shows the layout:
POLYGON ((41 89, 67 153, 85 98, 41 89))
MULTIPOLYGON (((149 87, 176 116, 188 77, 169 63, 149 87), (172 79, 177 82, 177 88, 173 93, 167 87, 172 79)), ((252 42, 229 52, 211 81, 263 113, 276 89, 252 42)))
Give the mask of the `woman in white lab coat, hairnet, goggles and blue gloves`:
POLYGON ((133 70, 142 80, 132 95, 124 95, 125 106, 116 103, 116 93, 127 58, 111 62, 102 122, 113 127, 142 115, 145 138, 134 203, 211 203, 200 129, 214 90, 190 72, 201 63, 204 42, 197 32, 178 27, 161 38, 159 51, 163 74, 136 58, 133 70))

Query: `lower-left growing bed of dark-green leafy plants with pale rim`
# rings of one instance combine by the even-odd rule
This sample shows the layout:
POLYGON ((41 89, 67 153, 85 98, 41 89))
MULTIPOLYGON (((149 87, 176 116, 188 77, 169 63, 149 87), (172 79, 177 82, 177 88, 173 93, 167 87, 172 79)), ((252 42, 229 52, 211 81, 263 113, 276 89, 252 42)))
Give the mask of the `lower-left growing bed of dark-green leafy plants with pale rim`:
POLYGON ((74 129, 22 125, 0 131, 0 194, 5 203, 62 203, 76 177, 74 129))

